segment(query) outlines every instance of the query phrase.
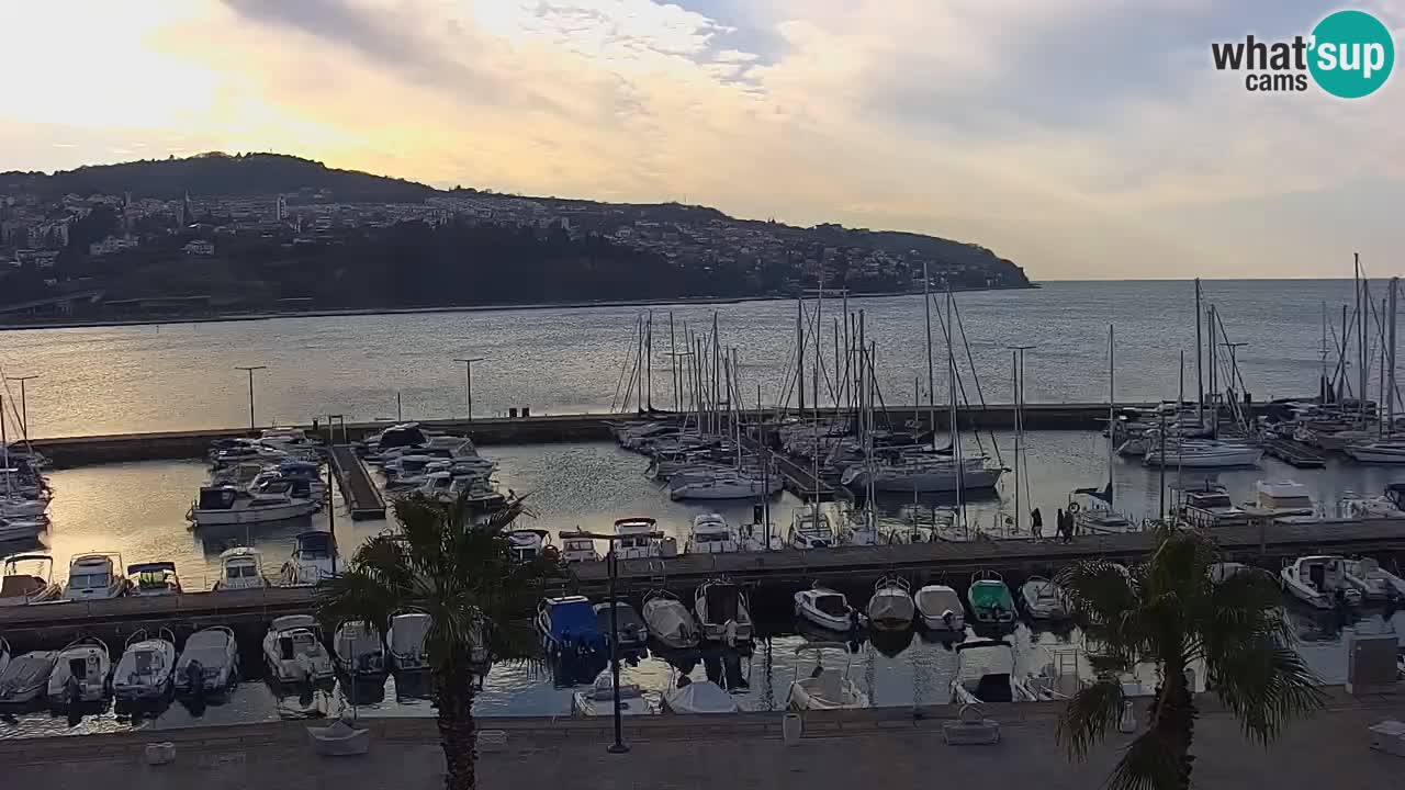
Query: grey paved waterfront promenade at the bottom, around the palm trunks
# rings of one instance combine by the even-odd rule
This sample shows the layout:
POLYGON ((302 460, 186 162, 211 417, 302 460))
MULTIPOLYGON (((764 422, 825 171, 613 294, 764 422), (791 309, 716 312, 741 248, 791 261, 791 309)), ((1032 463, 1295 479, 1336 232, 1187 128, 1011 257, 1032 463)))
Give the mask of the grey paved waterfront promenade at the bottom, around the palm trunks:
MULTIPOLYGON (((1204 703, 1210 706, 1210 700, 1204 703)), ((933 711, 950 715, 950 710, 933 711)), ((995 746, 947 746, 943 718, 913 721, 894 708, 812 717, 806 738, 785 746, 778 714, 710 721, 653 717, 627 725, 628 755, 606 753, 608 721, 517 720, 504 752, 482 756, 489 790, 888 790, 899 787, 1100 787, 1117 737, 1087 763, 1071 763, 1054 742, 1058 706, 992 711, 1002 721, 995 746)), ((1196 727, 1196 786, 1207 790, 1322 790, 1405 787, 1405 759, 1366 746, 1366 727, 1405 720, 1405 696, 1350 700, 1291 727, 1269 751, 1246 744, 1238 724, 1207 711, 1196 727)), ((91 735, 0 744, 6 787, 37 790, 260 790, 431 789, 443 777, 433 721, 370 723, 377 742, 364 758, 318 758, 302 725, 280 723, 160 734, 91 735), (171 738, 177 762, 140 762, 146 741, 171 738)))

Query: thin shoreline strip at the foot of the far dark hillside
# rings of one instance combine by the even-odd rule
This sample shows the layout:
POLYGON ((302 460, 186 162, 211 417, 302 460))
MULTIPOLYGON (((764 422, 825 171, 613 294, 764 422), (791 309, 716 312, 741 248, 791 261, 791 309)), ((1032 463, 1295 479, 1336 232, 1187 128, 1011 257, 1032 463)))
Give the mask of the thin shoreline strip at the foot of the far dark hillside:
MULTIPOLYGON (((972 294, 982 291, 1031 291, 1038 290, 1038 283, 1028 285, 1014 285, 1007 288, 961 288, 953 294, 972 294)), ((856 299, 916 297, 922 291, 880 291, 873 294, 851 294, 856 299)), ((665 298, 665 299, 600 299, 586 302, 524 302, 500 305, 441 305, 423 308, 344 308, 344 309, 309 309, 309 311, 274 311, 251 313, 215 313, 209 316, 171 316, 171 318, 132 318, 132 319, 93 319, 93 320, 42 320, 27 323, 0 323, 0 332, 22 332, 27 329, 98 329, 108 326, 153 326, 174 323, 232 323, 239 320, 270 320, 277 318, 341 318, 367 315, 416 315, 441 312, 502 312, 502 311, 542 311, 542 309, 577 309, 577 308, 628 308, 628 306, 691 306, 691 305, 732 305, 740 302, 773 302, 788 301, 795 297, 763 295, 763 297, 697 297, 697 298, 665 298)))

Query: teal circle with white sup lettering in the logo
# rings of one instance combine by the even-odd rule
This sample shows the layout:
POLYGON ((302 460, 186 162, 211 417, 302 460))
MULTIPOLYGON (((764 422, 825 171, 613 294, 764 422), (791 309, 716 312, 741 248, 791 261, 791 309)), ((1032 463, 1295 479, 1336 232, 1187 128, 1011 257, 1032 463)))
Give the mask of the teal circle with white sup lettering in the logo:
POLYGON ((1395 41, 1366 11, 1338 11, 1312 28, 1308 70, 1318 87, 1338 98, 1375 93, 1395 66, 1395 41))

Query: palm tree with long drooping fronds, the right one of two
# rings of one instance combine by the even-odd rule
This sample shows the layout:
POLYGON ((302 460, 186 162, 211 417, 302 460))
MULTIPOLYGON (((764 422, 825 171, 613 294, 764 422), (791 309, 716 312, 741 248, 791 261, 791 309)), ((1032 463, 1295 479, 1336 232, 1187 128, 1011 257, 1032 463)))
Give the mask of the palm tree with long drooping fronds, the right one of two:
POLYGON ((1319 708, 1319 680, 1293 651, 1274 579, 1262 571, 1211 579, 1218 551, 1210 538, 1163 527, 1144 565, 1123 569, 1080 562, 1058 576, 1090 645, 1097 679, 1069 700, 1058 739, 1085 759, 1123 715, 1120 676, 1152 663, 1159 685, 1145 728, 1109 779, 1111 790, 1186 790, 1197 717, 1187 671, 1203 666, 1207 686, 1264 746, 1288 720, 1319 708))

